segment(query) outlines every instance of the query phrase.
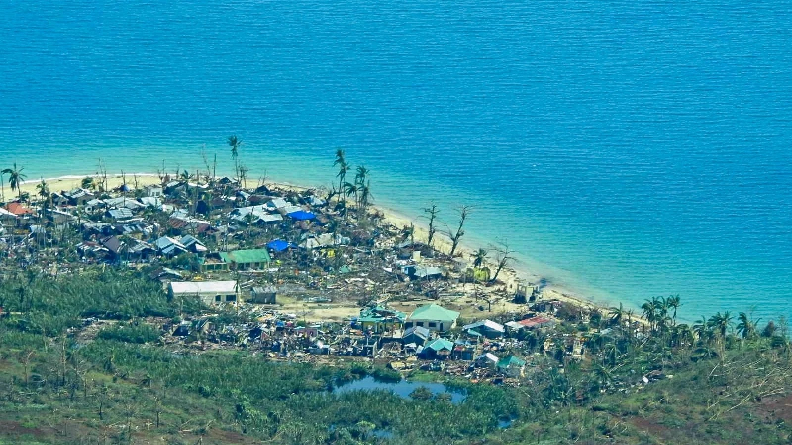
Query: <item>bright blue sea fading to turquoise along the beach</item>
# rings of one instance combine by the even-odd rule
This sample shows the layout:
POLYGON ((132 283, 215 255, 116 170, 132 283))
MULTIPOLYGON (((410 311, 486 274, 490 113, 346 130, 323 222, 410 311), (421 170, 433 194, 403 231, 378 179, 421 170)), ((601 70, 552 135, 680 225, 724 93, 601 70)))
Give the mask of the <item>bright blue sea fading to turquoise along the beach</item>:
POLYGON ((0 2, 0 164, 430 200, 594 299, 792 315, 792 2, 0 2))

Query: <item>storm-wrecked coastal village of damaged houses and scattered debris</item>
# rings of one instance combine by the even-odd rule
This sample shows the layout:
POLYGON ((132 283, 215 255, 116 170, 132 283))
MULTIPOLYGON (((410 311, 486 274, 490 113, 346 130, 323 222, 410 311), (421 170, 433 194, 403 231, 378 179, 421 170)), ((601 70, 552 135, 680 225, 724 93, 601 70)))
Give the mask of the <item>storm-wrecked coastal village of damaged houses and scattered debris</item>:
MULTIPOLYGON (((246 188, 244 178, 115 179, 111 187, 106 176, 86 177, 63 191, 42 181, 38 196, 19 192, 0 207, 0 271, 145 274, 169 299, 208 308, 141 320, 179 350, 246 349, 271 360, 364 362, 512 385, 539 363, 581 359, 595 331, 576 325, 601 317, 546 298, 538 284, 499 280, 504 255, 496 262, 481 250, 437 249, 357 192, 348 193, 352 207, 334 190, 246 188)), ((90 340, 112 323, 89 318, 70 335, 90 340)))

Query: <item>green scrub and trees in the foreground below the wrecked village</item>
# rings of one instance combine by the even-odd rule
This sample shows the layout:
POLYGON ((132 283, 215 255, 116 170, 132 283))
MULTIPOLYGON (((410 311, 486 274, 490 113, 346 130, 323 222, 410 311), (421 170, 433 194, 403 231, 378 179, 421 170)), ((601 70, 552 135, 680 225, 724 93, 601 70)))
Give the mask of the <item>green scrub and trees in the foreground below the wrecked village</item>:
POLYGON ((786 324, 727 313, 688 326, 668 300, 647 302, 645 325, 623 308, 565 325, 593 332, 586 359, 558 340, 520 386, 448 382, 467 394, 453 404, 425 390, 329 392, 394 377, 367 363, 157 344, 141 318, 201 306, 131 272, 20 275, 0 284, 12 313, 0 321, 0 443, 790 443, 786 324), (117 322, 83 340, 73 328, 89 317, 117 322), (650 371, 673 377, 640 383, 650 371))

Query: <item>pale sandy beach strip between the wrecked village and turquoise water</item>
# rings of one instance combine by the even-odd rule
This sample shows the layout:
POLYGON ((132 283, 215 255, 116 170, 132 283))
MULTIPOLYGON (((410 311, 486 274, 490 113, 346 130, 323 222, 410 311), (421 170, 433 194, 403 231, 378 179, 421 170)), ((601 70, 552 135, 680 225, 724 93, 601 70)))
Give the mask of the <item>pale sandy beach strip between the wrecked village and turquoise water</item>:
MULTIPOLYGON (((48 184, 50 192, 61 192, 61 191, 68 191, 73 188, 80 187, 82 180, 91 175, 63 175, 59 177, 49 177, 44 178, 44 181, 48 184)), ((95 175, 94 175, 95 176, 95 175)), ((126 173, 126 183, 132 186, 135 184, 135 177, 137 180, 137 184, 139 187, 151 185, 151 184, 159 184, 160 179, 158 173, 126 173)), ((6 180, 8 178, 6 177, 6 180)), ((21 184, 21 192, 28 192, 31 196, 36 195, 36 185, 40 184, 41 179, 30 179, 28 178, 27 181, 21 184)), ((108 174, 107 176, 107 186, 109 189, 120 187, 120 185, 124 184, 124 177, 120 173, 112 173, 108 174)), ((297 188, 297 189, 311 189, 312 187, 304 187, 299 184, 289 184, 286 182, 278 182, 272 181, 269 182, 269 185, 274 185, 280 188, 297 188)), ((9 184, 5 184, 5 192, 6 192, 6 199, 13 200, 14 196, 17 195, 17 192, 12 192, 10 189, 9 184)), ((387 222, 390 222, 394 226, 397 227, 404 227, 413 224, 415 226, 415 239, 418 241, 425 242, 428 238, 428 224, 419 216, 411 217, 409 215, 404 215, 401 212, 394 211, 393 209, 374 205, 372 206, 373 209, 381 212, 387 222)), ((416 209, 417 212, 420 212, 420 209, 416 209)), ((448 253, 451 250, 451 240, 448 239, 444 234, 440 231, 436 234, 436 241, 433 242, 436 249, 440 250, 441 252, 448 253)), ((494 253, 490 246, 494 243, 489 243, 489 245, 472 245, 470 242, 466 242, 463 240, 460 241, 459 247, 457 251, 462 253, 464 257, 469 258, 472 254, 478 250, 479 247, 483 247, 490 252, 490 257, 488 257, 487 264, 492 269, 494 260, 494 253)), ((472 262, 472 260, 471 260, 472 262)), ((507 268, 504 268, 501 271, 501 275, 498 276, 499 281, 503 281, 505 283, 505 288, 507 291, 515 291, 516 285, 518 283, 523 283, 527 285, 537 286, 539 283, 543 283, 544 277, 539 276, 538 274, 527 270, 524 265, 520 264, 518 261, 512 261, 512 264, 509 264, 507 268)), ((503 287, 503 285, 501 286, 503 287)), ((558 299, 566 302, 573 302, 578 306, 584 307, 602 307, 607 308, 610 306, 608 302, 597 302, 592 301, 591 299, 586 299, 581 297, 580 295, 576 295, 573 291, 566 289, 558 285, 557 283, 546 282, 543 283, 543 297, 544 299, 558 299)))

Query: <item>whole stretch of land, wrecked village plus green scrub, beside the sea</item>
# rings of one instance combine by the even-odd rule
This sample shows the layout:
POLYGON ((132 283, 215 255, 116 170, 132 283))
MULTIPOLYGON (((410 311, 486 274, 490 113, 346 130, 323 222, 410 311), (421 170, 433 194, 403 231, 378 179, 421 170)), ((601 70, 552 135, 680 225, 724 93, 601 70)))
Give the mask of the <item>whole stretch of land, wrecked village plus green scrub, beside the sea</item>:
POLYGON ((728 312, 677 323, 676 295, 647 299, 642 316, 558 295, 520 280, 508 245, 460 242, 466 207, 441 230, 432 204, 421 226, 372 206, 362 167, 329 189, 249 185, 239 170, 17 174, 0 188, 6 435, 634 445, 670 403, 680 424, 729 425, 761 399, 779 407, 754 410, 764 437, 790 437, 776 428, 790 397, 784 325, 740 314, 738 338, 728 312), (44 411, 82 429, 44 430, 44 411), (580 413, 594 426, 569 420, 580 413))

